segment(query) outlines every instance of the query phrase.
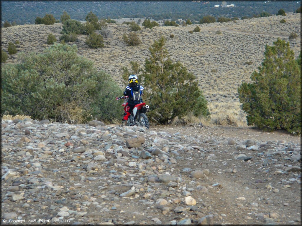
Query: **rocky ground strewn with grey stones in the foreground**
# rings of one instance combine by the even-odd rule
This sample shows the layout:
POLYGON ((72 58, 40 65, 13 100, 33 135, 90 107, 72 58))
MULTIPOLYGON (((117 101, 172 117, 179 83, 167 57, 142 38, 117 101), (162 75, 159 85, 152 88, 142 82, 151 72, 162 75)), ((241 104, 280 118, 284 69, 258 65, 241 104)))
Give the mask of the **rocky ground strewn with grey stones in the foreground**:
POLYGON ((301 225, 289 133, 25 118, 2 120, 1 135, 2 223, 301 225))

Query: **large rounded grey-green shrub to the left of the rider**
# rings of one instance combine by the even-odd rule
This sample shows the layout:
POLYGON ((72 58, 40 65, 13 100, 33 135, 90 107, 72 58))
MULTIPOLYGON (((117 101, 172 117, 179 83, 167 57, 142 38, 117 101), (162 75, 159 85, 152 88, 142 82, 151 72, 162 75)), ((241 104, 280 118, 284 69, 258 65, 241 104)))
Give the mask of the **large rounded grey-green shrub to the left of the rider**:
POLYGON ((110 75, 78 56, 76 45, 55 43, 42 54, 21 54, 20 59, 1 68, 2 112, 72 124, 122 116, 115 97, 123 91, 110 75))

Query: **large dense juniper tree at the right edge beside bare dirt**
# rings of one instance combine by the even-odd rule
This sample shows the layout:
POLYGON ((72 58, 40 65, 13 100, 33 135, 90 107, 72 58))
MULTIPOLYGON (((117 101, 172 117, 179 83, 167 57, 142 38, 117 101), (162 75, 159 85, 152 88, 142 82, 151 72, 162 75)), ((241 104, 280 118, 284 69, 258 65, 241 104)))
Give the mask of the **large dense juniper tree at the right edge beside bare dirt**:
POLYGON ((238 88, 248 125, 264 130, 301 130, 301 69, 289 43, 277 39, 265 46, 259 72, 251 75, 252 83, 238 88))

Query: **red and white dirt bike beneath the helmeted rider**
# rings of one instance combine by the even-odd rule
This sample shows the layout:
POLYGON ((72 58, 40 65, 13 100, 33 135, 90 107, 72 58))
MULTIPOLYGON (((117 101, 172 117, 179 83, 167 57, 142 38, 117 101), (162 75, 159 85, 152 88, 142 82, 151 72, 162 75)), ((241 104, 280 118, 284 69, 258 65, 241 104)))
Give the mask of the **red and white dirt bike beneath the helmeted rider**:
MULTIPOLYGON (((117 97, 116 100, 124 99, 122 106, 126 111, 128 96, 117 97)), ((149 106, 146 103, 140 103, 134 106, 131 114, 128 117, 127 126, 145 126, 149 129, 149 120, 147 118, 146 112, 148 111, 149 106)))

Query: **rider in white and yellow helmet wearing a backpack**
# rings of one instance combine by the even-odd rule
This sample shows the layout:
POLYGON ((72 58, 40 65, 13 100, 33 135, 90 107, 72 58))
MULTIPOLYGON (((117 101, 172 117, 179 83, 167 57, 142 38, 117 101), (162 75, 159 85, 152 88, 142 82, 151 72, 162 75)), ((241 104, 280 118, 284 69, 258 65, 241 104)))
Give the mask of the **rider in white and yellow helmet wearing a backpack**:
POLYGON ((128 105, 124 113, 124 118, 122 120, 122 126, 127 124, 129 115, 131 114, 133 107, 139 103, 142 103, 142 95, 144 87, 138 84, 137 76, 132 74, 128 78, 129 85, 124 91, 124 96, 129 96, 128 105))

